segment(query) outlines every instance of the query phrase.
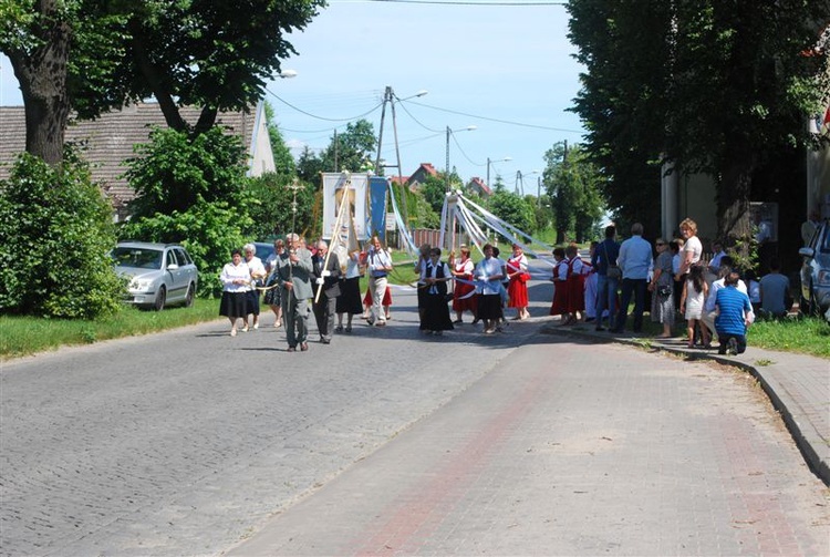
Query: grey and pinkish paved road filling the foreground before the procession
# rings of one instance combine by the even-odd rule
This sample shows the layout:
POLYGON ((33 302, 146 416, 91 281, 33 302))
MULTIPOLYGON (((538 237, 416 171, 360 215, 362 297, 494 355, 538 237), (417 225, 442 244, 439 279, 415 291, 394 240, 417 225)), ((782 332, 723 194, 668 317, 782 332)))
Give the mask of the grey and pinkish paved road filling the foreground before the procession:
POLYGON ((266 317, 4 363, 0 554, 830 549, 822 484, 743 375, 540 333, 543 301, 422 337, 414 301, 305 353, 266 317))

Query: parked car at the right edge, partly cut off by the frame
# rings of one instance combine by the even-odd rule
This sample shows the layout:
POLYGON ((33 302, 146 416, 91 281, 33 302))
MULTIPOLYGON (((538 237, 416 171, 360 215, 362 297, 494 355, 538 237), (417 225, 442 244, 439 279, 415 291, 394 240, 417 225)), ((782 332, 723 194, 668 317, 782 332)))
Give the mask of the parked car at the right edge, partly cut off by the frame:
POLYGON ((818 316, 830 309, 830 219, 821 223, 810 244, 798 252, 803 256, 801 313, 818 316))

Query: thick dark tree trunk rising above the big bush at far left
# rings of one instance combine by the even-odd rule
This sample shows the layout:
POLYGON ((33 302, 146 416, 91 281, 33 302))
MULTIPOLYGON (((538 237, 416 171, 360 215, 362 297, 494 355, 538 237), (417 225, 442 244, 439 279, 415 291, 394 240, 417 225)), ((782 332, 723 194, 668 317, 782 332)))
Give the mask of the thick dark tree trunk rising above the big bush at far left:
POLYGON ((25 112, 25 149, 48 164, 63 159, 63 137, 69 121, 66 92, 72 28, 54 17, 56 0, 41 0, 38 11, 43 24, 35 31, 42 45, 31 52, 9 52, 20 82, 25 112))

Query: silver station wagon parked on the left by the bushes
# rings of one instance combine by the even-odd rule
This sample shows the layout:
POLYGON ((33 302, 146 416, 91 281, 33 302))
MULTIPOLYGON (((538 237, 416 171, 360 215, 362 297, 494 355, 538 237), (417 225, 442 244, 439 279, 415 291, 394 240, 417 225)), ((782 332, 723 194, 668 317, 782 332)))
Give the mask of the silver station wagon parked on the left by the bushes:
POLYGON ((120 241, 111 257, 129 278, 128 303, 160 311, 169 303, 193 306, 199 272, 187 250, 176 244, 120 241))

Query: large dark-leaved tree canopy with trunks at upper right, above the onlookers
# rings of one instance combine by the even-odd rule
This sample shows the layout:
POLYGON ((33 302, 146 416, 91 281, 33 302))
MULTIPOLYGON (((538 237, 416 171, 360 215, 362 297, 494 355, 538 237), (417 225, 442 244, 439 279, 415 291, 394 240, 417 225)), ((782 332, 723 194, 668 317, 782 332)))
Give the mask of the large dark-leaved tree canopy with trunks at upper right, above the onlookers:
POLYGON ((803 120, 828 90, 828 51, 802 53, 830 2, 572 0, 569 10, 588 69, 574 110, 611 206, 630 217, 656 207, 658 165, 672 162, 715 179, 718 234, 746 243, 759 168, 812 141, 803 120))

